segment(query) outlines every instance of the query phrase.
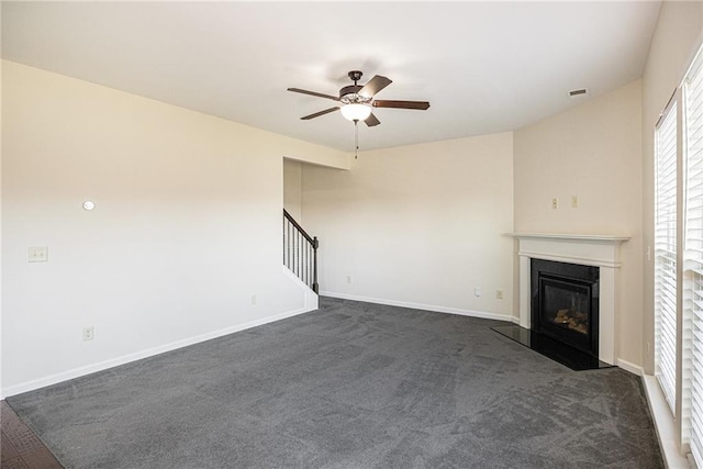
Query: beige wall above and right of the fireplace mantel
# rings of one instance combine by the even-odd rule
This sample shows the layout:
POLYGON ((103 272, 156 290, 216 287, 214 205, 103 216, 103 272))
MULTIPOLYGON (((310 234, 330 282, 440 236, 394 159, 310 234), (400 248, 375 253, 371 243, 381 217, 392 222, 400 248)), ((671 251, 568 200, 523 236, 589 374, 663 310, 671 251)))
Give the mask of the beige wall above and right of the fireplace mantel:
POLYGON ((643 322, 640 102, 635 81, 514 135, 516 232, 632 236, 621 248, 616 337, 618 358, 635 366, 643 322))

